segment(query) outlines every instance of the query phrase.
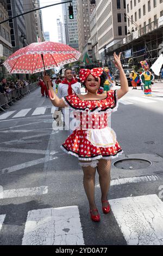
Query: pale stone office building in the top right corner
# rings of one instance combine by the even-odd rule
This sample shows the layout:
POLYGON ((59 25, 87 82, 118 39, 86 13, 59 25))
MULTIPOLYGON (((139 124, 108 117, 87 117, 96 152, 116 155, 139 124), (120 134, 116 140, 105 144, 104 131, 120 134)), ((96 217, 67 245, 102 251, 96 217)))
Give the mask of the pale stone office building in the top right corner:
POLYGON ((163 17, 163 0, 126 0, 126 6, 127 26, 130 32, 137 31, 153 21, 157 24, 157 20, 163 17))

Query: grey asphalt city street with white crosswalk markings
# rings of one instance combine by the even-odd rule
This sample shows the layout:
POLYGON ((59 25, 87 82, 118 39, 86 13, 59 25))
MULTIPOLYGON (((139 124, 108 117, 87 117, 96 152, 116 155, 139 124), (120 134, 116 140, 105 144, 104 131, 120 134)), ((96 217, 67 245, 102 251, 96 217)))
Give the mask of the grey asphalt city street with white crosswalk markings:
POLYGON ((96 175, 99 223, 77 157, 60 149, 67 132, 52 129, 55 107, 40 88, 0 113, 0 245, 163 245, 163 83, 152 90, 145 97, 130 87, 112 114, 119 159, 137 168, 112 165, 108 215, 96 175))

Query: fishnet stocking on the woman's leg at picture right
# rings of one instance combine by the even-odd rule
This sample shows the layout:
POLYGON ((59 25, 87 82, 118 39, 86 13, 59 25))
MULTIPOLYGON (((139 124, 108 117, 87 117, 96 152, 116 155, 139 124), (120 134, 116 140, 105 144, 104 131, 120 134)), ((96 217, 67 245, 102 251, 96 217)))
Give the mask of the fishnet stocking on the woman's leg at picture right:
MULTIPOLYGON (((101 187, 102 200, 108 200, 108 192, 110 187, 110 169, 111 169, 111 160, 101 159, 98 161, 97 172, 99 174, 99 185, 101 187)), ((102 203, 103 207, 108 204, 102 203)))

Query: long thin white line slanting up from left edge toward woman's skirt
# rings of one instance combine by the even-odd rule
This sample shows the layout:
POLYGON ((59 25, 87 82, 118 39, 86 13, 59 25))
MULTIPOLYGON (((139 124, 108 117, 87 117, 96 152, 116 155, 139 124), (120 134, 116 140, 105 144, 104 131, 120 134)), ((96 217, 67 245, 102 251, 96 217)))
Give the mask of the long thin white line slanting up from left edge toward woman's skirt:
POLYGON ((36 159, 36 160, 33 160, 33 161, 26 162, 26 163, 17 164, 16 166, 11 166, 11 167, 2 169, 0 171, 0 174, 16 172, 17 170, 21 170, 21 169, 24 169, 24 168, 35 166, 37 164, 45 163, 45 162, 52 161, 52 160, 55 160, 55 159, 58 159, 58 157, 51 156, 51 157, 48 157, 48 159, 41 158, 41 159, 36 159))

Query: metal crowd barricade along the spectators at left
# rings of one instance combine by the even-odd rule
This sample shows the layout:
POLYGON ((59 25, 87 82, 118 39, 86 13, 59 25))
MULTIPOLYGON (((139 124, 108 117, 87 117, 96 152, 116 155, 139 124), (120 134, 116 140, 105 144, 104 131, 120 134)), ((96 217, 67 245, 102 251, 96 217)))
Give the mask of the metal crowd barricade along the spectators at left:
POLYGON ((0 94, 0 109, 5 111, 3 106, 8 105, 9 102, 20 100, 22 96, 33 92, 36 88, 38 88, 37 83, 28 84, 27 86, 21 88, 14 88, 9 93, 0 94))

